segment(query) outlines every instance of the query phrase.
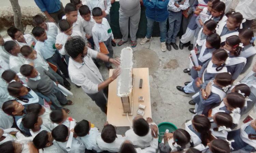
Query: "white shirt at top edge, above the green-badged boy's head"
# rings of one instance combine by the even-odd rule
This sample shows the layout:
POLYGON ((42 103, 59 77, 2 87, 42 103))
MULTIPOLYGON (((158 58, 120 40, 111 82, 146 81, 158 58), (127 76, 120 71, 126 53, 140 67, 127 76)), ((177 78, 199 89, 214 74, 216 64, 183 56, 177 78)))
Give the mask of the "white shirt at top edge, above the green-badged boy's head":
POLYGON ((109 14, 111 2, 110 0, 87 0, 87 6, 90 11, 93 11, 93 8, 100 7, 101 10, 105 10, 106 14, 109 14))

